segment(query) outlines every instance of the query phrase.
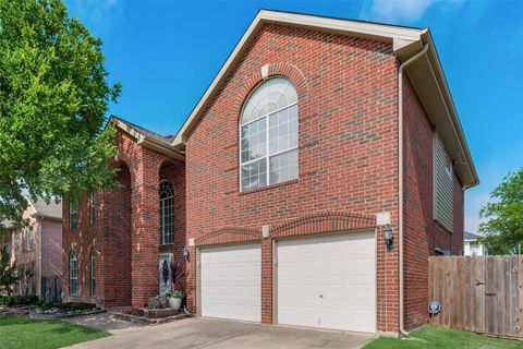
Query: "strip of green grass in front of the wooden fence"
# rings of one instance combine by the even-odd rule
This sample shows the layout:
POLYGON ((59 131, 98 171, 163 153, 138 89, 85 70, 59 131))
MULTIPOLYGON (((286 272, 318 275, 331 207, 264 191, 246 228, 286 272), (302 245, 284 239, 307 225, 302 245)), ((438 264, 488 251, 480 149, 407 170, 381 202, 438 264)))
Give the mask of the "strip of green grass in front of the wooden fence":
POLYGON ((365 346, 365 349, 381 348, 512 349, 523 348, 523 341, 492 338, 458 329, 423 326, 413 330, 409 339, 380 337, 365 346))

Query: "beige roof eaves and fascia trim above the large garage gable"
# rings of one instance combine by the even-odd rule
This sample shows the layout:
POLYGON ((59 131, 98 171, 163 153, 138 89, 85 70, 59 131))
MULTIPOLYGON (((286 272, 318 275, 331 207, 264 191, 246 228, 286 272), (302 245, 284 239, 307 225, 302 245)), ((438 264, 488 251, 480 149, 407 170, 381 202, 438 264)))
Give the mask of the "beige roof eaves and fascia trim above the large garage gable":
POLYGON ((470 153, 455 106, 441 68, 441 63, 428 28, 393 26, 380 23, 350 21, 299 13, 262 10, 251 23, 218 74, 215 76, 188 118, 183 123, 171 145, 183 148, 186 136, 199 121, 203 111, 219 93, 229 74, 239 63, 243 53, 257 37, 264 24, 305 27, 315 31, 350 35, 374 40, 392 43, 393 53, 400 62, 405 62, 424 46, 427 55, 405 69, 412 81, 430 122, 438 130, 448 154, 452 155, 455 171, 463 188, 477 185, 479 179, 470 153))

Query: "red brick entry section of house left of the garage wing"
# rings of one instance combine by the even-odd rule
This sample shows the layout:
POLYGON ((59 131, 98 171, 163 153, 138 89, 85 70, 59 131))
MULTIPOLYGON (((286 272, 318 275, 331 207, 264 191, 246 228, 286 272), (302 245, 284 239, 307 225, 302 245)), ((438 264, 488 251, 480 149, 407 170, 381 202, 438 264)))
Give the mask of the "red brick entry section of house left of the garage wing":
POLYGON ((170 179, 175 190, 175 244, 172 250, 182 260, 185 244, 185 168, 183 161, 170 159, 158 152, 142 147, 126 132, 117 134, 118 161, 122 168, 117 178, 123 188, 97 193, 98 216, 89 222, 87 195, 78 204, 78 229, 69 229, 69 203, 63 205, 63 278, 69 294, 69 254, 78 254, 78 296, 68 297, 106 306, 144 306, 149 297, 158 294, 159 201, 161 176, 170 179), (90 251, 96 246, 96 297, 90 297, 90 251))

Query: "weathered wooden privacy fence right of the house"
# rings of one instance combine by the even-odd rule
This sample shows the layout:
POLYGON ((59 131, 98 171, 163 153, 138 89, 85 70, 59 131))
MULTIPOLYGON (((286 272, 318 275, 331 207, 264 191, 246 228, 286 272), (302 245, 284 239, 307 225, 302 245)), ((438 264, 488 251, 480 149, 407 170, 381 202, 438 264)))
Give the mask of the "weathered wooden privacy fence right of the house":
POLYGON ((441 311, 433 325, 506 337, 523 337, 523 257, 429 257, 429 300, 441 311))

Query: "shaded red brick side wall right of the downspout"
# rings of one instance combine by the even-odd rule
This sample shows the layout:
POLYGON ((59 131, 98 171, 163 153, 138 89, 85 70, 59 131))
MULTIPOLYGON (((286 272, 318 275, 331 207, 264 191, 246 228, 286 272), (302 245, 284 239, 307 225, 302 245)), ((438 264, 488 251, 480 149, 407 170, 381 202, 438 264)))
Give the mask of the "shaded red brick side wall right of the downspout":
POLYGON ((428 321, 428 256, 434 249, 463 251, 463 192, 454 173, 453 233, 433 215, 433 127, 410 82, 403 88, 405 327, 428 321))

